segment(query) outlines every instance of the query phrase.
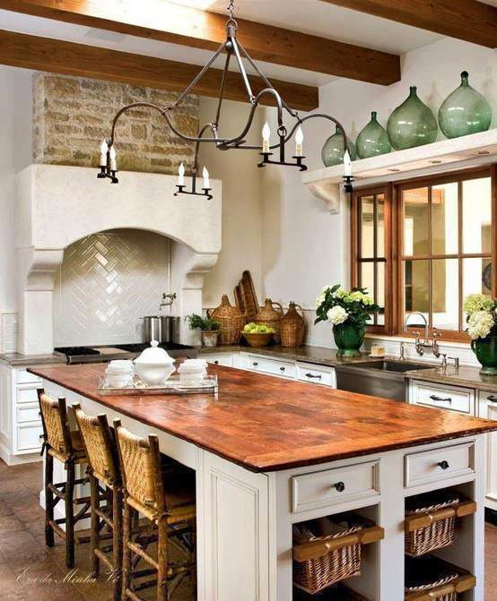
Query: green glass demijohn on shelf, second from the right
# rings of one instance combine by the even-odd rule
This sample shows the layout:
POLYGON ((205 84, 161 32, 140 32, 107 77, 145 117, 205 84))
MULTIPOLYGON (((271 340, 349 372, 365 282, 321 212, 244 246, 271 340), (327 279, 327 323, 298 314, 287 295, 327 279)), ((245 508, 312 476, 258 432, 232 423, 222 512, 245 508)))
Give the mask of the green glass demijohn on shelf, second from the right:
POLYGON ((388 118, 388 140, 396 150, 405 150, 435 142, 438 133, 437 119, 411 87, 407 99, 388 118))

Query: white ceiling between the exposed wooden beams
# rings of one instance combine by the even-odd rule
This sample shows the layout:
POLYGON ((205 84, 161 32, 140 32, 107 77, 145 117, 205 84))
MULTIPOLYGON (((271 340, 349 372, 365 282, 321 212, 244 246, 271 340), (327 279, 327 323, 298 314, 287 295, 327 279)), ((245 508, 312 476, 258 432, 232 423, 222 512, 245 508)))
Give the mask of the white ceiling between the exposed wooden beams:
MULTIPOLYGON (((146 0, 136 1, 146 4, 146 0)), ((208 8, 218 13, 225 13, 228 4, 228 0, 174 1, 177 4, 208 8)), ((497 4, 497 0, 487 1, 489 4, 497 4)), ((429 31, 371 17, 321 0, 236 0, 236 16, 397 54, 404 54, 409 50, 425 46, 441 37, 429 31)), ((0 28, 191 64, 205 64, 211 55, 208 51, 192 47, 181 47, 2 10, 0 10, 0 28)), ((215 66, 222 68, 222 64, 223 59, 220 59, 215 66)), ((262 66, 269 78, 317 86, 336 79, 327 74, 311 73, 292 67, 258 64, 262 66)))

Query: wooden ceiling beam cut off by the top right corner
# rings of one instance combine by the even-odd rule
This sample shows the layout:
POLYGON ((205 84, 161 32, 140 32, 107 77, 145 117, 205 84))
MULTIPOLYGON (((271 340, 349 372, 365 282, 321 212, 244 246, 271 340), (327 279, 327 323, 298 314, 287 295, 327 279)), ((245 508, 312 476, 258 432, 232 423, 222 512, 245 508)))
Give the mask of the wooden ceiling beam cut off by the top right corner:
POLYGON ((476 0, 325 0, 390 21, 497 47, 497 8, 476 0))

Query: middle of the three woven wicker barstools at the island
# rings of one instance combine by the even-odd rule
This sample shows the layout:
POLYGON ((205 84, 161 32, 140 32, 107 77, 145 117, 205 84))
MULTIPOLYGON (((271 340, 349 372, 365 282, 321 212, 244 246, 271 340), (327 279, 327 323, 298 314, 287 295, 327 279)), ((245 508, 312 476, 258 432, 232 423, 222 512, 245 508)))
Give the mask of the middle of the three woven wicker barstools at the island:
POLYGON ((93 575, 100 576, 100 562, 109 568, 114 582, 114 599, 121 597, 122 588, 122 484, 118 464, 118 447, 114 432, 105 414, 88 416, 78 404, 73 405, 80 429, 90 477, 92 502, 93 575), (100 506, 104 500, 105 506, 100 506), (112 533, 112 545, 100 546, 100 531, 107 526, 112 533))

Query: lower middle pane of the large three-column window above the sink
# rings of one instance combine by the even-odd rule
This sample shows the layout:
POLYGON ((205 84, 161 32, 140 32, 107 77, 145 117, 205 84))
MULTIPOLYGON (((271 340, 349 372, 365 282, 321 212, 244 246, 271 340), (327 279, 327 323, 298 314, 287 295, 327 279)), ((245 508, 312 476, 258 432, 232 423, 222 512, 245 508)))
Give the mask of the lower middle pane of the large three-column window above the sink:
POLYGON ((458 259, 435 259, 432 263, 433 327, 459 329, 458 259))

